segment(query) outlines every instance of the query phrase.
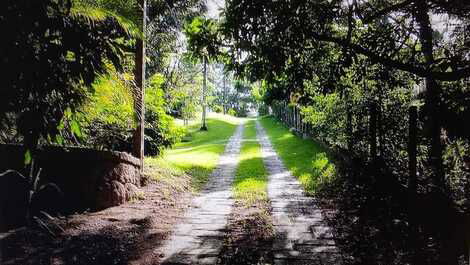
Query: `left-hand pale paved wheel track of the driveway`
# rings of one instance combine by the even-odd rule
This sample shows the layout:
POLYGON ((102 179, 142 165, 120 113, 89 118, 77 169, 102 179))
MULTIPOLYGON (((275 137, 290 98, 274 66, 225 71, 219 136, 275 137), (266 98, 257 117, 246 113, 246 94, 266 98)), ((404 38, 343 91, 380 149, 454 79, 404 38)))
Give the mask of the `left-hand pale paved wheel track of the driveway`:
POLYGON ((217 168, 192 207, 164 243, 162 264, 216 264, 223 245, 227 218, 234 200, 231 184, 243 136, 239 125, 229 139, 217 168))

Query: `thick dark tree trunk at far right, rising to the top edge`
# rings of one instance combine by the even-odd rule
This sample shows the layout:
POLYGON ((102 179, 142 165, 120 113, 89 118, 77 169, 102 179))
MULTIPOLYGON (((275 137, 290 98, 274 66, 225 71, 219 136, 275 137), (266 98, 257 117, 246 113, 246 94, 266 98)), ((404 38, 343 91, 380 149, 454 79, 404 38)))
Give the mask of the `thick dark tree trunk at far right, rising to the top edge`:
MULTIPOLYGON (((419 39, 424 53, 426 67, 431 72, 434 62, 433 56, 433 30, 429 18, 429 6, 424 0, 417 1, 415 17, 419 25, 419 39)), ((430 139, 429 166, 432 179, 437 188, 445 189, 444 170, 442 161, 441 143, 441 117, 439 99, 442 91, 436 80, 428 75, 426 77, 425 112, 426 128, 430 139)))

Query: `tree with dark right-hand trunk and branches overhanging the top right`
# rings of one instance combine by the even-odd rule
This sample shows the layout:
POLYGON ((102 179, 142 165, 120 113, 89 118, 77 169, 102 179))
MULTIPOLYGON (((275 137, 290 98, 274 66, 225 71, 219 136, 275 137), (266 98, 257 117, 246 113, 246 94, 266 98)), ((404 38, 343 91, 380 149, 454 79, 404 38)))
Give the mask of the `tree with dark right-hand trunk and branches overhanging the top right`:
MULTIPOLYGON (((443 188, 439 82, 470 76, 469 49, 468 43, 458 37, 465 27, 455 27, 445 33, 446 38, 436 41, 439 29, 431 20, 443 15, 463 24, 467 23, 469 12, 470 4, 457 0, 233 0, 227 2, 222 28, 234 43, 234 53, 247 53, 232 57, 234 68, 251 71, 250 75, 259 79, 274 80, 276 74, 289 71, 292 62, 302 59, 299 54, 329 46, 340 51, 346 64, 365 56, 372 63, 426 79, 429 165, 436 187, 443 188)), ((295 78, 297 82, 308 79, 304 78, 306 71, 299 67, 294 65, 292 70, 300 77, 295 78)))

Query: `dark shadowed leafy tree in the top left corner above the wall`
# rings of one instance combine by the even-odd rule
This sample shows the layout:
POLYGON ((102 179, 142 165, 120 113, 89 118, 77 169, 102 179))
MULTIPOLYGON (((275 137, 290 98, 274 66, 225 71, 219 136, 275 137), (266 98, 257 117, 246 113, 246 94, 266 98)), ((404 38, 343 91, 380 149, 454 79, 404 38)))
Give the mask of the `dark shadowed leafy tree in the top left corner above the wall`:
MULTIPOLYGON (((83 104, 86 90, 106 71, 105 61, 120 69, 129 34, 113 17, 89 23, 86 17, 70 13, 69 1, 3 1, 1 5, 0 29, 5 39, 0 65, 6 79, 0 123, 13 120, 34 156, 40 141, 60 142, 64 115, 83 104)), ((79 131, 76 124, 73 130, 79 131)))

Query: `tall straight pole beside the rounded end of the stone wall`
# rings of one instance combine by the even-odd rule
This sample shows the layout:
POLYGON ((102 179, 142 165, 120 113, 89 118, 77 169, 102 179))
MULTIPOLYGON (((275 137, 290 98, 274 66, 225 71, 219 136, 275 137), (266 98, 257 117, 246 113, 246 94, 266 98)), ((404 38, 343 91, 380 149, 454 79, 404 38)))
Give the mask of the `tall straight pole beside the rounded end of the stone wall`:
POLYGON ((144 166, 144 129, 145 129, 145 28, 147 1, 139 0, 139 11, 142 14, 142 39, 136 41, 135 52, 135 84, 134 108, 137 117, 137 128, 134 132, 134 144, 132 153, 140 159, 141 170, 144 166))

